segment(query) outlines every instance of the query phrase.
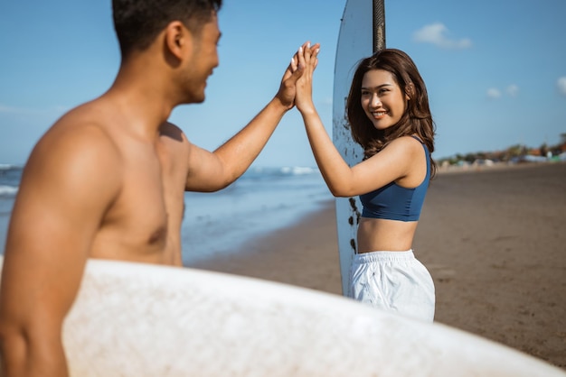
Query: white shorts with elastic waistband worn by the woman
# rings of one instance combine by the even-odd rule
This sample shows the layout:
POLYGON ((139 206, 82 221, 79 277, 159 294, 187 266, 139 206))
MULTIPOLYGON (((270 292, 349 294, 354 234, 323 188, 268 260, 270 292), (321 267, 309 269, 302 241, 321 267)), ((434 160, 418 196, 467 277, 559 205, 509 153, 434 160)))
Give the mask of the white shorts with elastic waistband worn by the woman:
POLYGON ((434 319, 434 282, 412 250, 355 254, 348 296, 402 316, 434 319))

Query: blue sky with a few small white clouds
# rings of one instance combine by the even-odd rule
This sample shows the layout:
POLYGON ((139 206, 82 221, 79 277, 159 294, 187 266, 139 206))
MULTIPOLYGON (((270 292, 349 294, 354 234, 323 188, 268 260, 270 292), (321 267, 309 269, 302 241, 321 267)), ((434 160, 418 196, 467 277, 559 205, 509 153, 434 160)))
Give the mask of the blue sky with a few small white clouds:
MULTIPOLYGON (((220 66, 206 101, 171 121, 215 149, 267 104, 303 41, 322 44, 316 106, 332 130, 345 0, 224 0, 220 66)), ((566 2, 385 0, 387 47, 407 51, 429 88, 436 158, 559 143, 566 133, 566 2)), ((110 0, 0 2, 0 163, 23 164, 65 111, 118 71, 110 0)), ((301 118, 285 116, 258 166, 314 166, 301 118)))

